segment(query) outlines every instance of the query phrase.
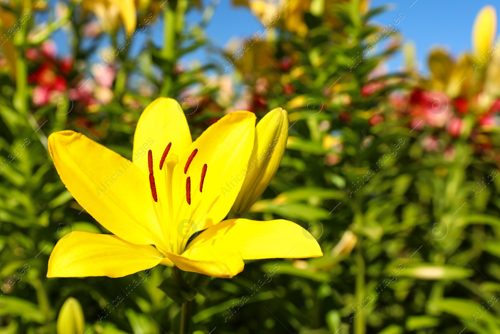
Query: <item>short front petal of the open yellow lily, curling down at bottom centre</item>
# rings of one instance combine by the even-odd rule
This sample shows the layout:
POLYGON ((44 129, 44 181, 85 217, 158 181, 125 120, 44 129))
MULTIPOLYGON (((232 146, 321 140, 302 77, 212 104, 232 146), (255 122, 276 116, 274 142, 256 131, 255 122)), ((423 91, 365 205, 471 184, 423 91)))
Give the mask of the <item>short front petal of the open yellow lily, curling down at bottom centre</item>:
POLYGON ((206 242, 177 255, 165 253, 179 269, 215 277, 233 277, 244 267, 237 248, 223 242, 206 242))

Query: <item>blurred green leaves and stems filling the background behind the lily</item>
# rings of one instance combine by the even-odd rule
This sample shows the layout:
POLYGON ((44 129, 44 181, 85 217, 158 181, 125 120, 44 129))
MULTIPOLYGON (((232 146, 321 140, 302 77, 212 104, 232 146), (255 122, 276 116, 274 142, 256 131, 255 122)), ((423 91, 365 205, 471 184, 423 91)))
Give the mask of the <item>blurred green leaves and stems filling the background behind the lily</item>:
MULTIPOLYGON (((466 133, 452 138, 428 127, 413 131, 389 94, 408 96, 415 86, 432 89, 431 82, 410 69, 370 77, 399 49, 400 38, 390 33, 388 47, 356 58, 383 34, 383 27, 367 23, 383 9, 361 10, 354 0, 324 3, 323 14, 301 13, 305 35, 289 31, 289 18, 283 17, 273 26, 274 40, 248 46, 234 67, 236 80, 250 89, 257 116, 283 107, 291 125, 280 169, 245 217, 297 222, 317 239, 324 256, 247 261, 237 277, 211 279, 206 295, 194 299, 191 331, 499 333, 500 303, 493 300, 500 293, 500 181, 494 178, 475 193, 476 183, 498 168, 496 132, 488 132, 491 146, 478 153, 466 133), (266 79, 263 91, 259 78, 266 79), (374 82, 383 85, 362 94, 374 82), (382 123, 370 124, 375 114, 382 123), (430 134, 440 141, 434 152, 422 148, 430 134), (325 136, 335 146, 325 146, 325 136), (452 158, 444 154, 450 145, 452 158), (344 233, 352 250, 336 246, 344 233)), ((2 11, 19 17, 26 11, 23 3, 10 5, 2 11)), ((162 11, 179 23, 196 6, 179 0, 162 11)), ((206 18, 214 8, 203 10, 206 18)), ((78 11, 69 6, 73 20, 67 22, 76 33, 87 20, 78 11)), ((158 289, 170 268, 122 278, 45 277, 50 251, 64 234, 106 233, 60 181, 46 136, 73 129, 130 158, 136 121, 149 102, 157 96, 182 102, 186 88, 209 82, 207 71, 224 71, 218 64, 175 68, 180 57, 208 43, 204 25, 187 30, 177 24, 168 33, 174 43, 161 50, 149 44, 138 58, 120 54, 113 99, 93 113, 67 96, 63 104, 30 102, 26 78, 39 64, 24 51, 40 43, 27 38, 27 29, 16 32, 17 72, 3 71, 0 78, 0 152, 8 161, 0 172, 1 334, 55 332, 58 311, 70 296, 82 305, 87 333, 178 330, 180 305, 158 289), (145 78, 153 93, 144 96, 120 81, 131 73, 145 78), (109 306, 118 295, 123 300, 109 306)), ((85 59, 88 50, 81 43, 75 39, 75 54, 85 59)), ((186 108, 194 137, 223 115, 218 93, 218 87, 209 88, 186 108)))

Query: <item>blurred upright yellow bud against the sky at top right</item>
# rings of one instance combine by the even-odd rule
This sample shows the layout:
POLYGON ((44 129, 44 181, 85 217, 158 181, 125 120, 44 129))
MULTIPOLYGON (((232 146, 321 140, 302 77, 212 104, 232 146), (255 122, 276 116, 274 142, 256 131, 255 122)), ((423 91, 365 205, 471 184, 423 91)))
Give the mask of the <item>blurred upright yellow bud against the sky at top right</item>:
POLYGON ((484 6, 477 14, 472 28, 472 50, 476 56, 480 58, 483 52, 487 53, 495 34, 496 11, 493 6, 484 6))

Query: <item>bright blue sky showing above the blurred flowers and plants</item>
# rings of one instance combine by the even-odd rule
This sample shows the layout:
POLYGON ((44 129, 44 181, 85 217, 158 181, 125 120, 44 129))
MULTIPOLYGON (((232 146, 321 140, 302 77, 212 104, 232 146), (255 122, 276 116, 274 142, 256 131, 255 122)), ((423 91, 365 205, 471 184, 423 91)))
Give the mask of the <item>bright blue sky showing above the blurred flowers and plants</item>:
MULTIPOLYGON (((209 1, 209 0, 207 0, 209 1)), ((211 0, 213 2, 213 0, 211 0)), ((294 0, 299 1, 299 0, 294 0)), ((213 2, 216 4, 216 2, 213 2)), ((445 46, 453 55, 470 49, 470 34, 475 16, 485 5, 493 5, 500 11, 498 0, 395 0, 386 2, 374 0, 372 7, 388 5, 389 11, 375 17, 381 25, 387 25, 399 13, 404 19, 397 26, 405 41, 416 46, 419 68, 426 71, 425 59, 429 48, 445 46)), ((231 38, 250 36, 261 28, 260 23, 244 9, 233 8, 230 0, 222 0, 216 6, 212 21, 207 27, 207 35, 218 46, 224 46, 231 38)), ((196 13, 190 19, 197 20, 196 13)), ((202 57, 201 54, 193 55, 202 57)), ((388 64, 397 69, 401 57, 388 64), (396 64, 397 63, 397 64, 396 64)))

